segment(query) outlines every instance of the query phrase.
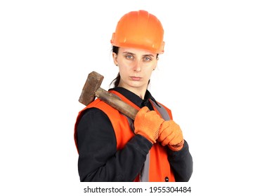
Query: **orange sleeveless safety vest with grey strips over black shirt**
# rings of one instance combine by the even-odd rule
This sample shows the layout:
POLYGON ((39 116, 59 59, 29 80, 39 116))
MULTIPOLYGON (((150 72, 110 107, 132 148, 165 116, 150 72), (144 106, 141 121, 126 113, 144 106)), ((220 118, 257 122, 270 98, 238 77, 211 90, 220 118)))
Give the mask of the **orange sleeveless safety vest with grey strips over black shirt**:
MULTIPOLYGON (((140 109, 138 106, 133 104, 129 99, 126 99, 124 95, 116 92, 114 90, 110 90, 113 94, 116 94, 119 98, 121 98, 127 104, 130 104, 135 109, 140 109)), ((164 118, 164 120, 171 120, 172 115, 171 111, 167 109, 162 104, 161 107, 157 106, 155 102, 150 101, 154 110, 164 118)), ((112 123, 112 127, 115 130, 115 136, 117 140, 117 151, 124 148, 127 142, 134 137, 133 132, 133 120, 124 116, 124 114, 114 109, 112 106, 106 104, 105 102, 101 101, 100 99, 96 99, 95 101, 91 102, 86 108, 79 112, 77 117, 77 121, 74 127, 74 141, 77 147, 77 125, 81 118, 81 114, 83 111, 89 108, 98 108, 103 111, 107 117, 110 119, 112 123)), ((78 148, 77 148, 78 150, 78 148)), ((144 181, 152 181, 152 182, 164 182, 164 181, 175 181, 174 174, 172 169, 169 165, 169 161, 167 159, 167 149, 161 146, 159 143, 153 144, 152 148, 150 148, 150 152, 147 155, 147 160, 145 161, 143 171, 139 176, 136 177, 135 181, 140 181, 140 179, 144 179, 144 181), (141 175, 141 176, 140 176, 141 175)))

